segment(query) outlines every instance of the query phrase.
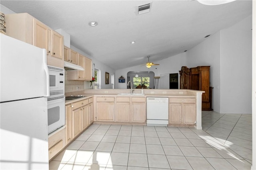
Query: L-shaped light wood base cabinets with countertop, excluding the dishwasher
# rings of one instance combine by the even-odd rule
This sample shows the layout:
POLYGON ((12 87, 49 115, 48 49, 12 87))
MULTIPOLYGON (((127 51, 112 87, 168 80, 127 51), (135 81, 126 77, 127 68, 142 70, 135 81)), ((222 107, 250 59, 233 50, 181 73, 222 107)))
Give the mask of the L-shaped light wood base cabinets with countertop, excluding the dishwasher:
MULTIPOLYGON (((146 125, 146 98, 165 97, 169 102, 168 126, 202 129, 202 93, 198 90, 88 89, 67 92, 66 125, 49 135, 49 159, 74 141, 92 123, 146 125)), ((157 114, 157 113, 156 113, 157 114)))

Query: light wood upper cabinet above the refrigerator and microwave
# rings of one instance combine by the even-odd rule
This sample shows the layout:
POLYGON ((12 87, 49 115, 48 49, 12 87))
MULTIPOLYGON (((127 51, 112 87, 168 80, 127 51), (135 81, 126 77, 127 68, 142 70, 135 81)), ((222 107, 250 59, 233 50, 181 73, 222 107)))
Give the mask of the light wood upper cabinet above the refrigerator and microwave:
POLYGON ((47 64, 64 68, 63 36, 29 14, 7 14, 6 35, 46 49, 47 64))

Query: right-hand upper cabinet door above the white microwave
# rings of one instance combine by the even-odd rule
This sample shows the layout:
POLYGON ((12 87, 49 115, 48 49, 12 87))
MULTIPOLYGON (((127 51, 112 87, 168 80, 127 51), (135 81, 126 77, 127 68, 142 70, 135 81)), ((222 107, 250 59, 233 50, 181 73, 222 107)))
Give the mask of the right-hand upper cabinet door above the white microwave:
POLYGON ((63 36, 51 30, 51 56, 63 59, 63 36))

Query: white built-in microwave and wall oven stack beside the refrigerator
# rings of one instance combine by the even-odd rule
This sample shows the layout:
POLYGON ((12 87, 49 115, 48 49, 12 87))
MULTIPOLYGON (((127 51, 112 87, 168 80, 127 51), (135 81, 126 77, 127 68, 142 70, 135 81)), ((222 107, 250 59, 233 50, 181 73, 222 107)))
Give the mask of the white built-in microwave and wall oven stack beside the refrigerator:
POLYGON ((48 66, 50 97, 48 97, 48 134, 65 125, 64 69, 48 66))

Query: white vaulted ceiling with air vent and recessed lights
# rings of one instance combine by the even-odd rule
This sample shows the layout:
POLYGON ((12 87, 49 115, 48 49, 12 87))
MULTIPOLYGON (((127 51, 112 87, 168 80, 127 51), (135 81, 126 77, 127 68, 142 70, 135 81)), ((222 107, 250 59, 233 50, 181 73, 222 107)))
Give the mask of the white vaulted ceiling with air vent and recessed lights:
MULTIPOLYGON (((1 0, 16 13, 27 12, 52 29, 63 29, 71 45, 118 70, 157 63, 190 50, 252 14, 252 0, 207 6, 197 0, 1 0), (150 12, 138 15, 140 5, 150 12), (90 21, 98 25, 90 26, 90 21), (135 41, 134 44, 131 42, 135 41)), ((90 57, 88 56, 88 57, 90 57)))

